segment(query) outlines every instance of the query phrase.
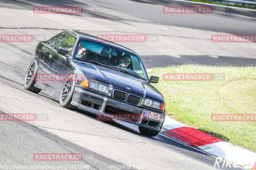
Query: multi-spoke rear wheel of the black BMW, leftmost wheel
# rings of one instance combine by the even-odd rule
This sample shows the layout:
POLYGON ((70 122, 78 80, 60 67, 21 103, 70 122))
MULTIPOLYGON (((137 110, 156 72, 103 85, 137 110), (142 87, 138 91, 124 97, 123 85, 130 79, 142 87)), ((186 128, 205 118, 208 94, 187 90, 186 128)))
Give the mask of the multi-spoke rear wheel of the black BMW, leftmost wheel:
POLYGON ((34 86, 36 83, 37 67, 37 61, 33 60, 28 67, 28 71, 24 81, 24 88, 33 93, 39 93, 41 91, 41 89, 38 89, 34 86))

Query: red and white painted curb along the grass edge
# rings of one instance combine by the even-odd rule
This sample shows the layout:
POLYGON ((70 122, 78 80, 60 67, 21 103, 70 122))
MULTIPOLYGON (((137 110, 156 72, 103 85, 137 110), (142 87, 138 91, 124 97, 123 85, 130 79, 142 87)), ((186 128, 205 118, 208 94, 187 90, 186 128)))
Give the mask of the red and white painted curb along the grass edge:
POLYGON ((256 153, 215 138, 166 116, 161 135, 209 153, 220 159, 256 170, 256 153))

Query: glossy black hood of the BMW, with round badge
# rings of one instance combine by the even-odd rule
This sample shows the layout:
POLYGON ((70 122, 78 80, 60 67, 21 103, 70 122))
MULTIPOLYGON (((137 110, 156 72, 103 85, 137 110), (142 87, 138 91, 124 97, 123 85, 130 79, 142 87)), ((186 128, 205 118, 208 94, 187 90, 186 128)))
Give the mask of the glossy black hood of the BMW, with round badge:
POLYGON ((157 102, 164 103, 161 93, 150 83, 138 79, 129 74, 120 73, 111 68, 98 66, 92 63, 76 62, 88 75, 90 81, 100 82, 102 84, 120 89, 128 93, 143 96, 157 102), (126 89, 126 87, 131 90, 126 89))

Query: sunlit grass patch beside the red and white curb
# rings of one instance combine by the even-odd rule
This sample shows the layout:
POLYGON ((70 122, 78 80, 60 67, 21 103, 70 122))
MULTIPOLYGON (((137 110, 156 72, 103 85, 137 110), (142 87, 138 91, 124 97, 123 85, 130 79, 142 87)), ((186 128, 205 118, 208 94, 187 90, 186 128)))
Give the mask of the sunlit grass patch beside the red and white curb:
POLYGON ((166 114, 234 145, 256 152, 256 122, 213 122, 212 114, 256 114, 256 67, 181 65, 155 68, 153 84, 166 114), (164 73, 225 74, 224 81, 164 81, 164 73))

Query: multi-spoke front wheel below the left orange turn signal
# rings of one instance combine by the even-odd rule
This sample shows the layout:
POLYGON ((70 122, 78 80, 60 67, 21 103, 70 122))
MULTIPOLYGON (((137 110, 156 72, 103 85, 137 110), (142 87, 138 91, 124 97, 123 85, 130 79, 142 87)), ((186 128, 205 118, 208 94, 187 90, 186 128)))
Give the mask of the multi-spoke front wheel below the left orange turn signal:
POLYGON ((70 110, 75 110, 78 108, 71 104, 73 93, 75 90, 75 83, 76 83, 76 80, 75 80, 74 74, 69 74, 60 91, 59 102, 61 107, 64 107, 70 110))

